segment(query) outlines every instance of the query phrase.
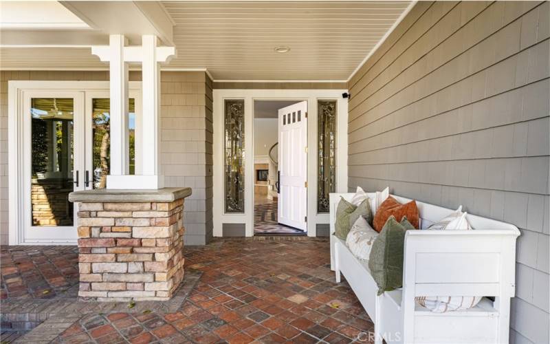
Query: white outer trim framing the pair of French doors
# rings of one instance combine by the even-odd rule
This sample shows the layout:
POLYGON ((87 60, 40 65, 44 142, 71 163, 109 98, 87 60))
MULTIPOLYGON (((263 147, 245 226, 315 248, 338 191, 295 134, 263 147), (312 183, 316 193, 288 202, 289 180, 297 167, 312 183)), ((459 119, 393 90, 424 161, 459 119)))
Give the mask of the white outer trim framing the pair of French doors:
MULTIPOLYGON (((141 90, 141 81, 130 81, 129 87, 141 90)), ((26 241, 24 237, 25 219, 23 209, 25 195, 25 170, 23 148, 25 144, 23 118, 19 116, 24 109, 25 92, 105 92, 109 93, 109 81, 54 81, 54 80, 10 80, 8 81, 8 211, 10 245, 67 245, 76 244, 76 240, 40 240, 26 241)), ((82 109, 84 116, 84 109, 82 109)), ((83 122, 84 124, 84 122, 83 122)), ((81 138, 84 142, 85 138, 81 138)), ((83 177, 83 176, 82 176, 83 177)))

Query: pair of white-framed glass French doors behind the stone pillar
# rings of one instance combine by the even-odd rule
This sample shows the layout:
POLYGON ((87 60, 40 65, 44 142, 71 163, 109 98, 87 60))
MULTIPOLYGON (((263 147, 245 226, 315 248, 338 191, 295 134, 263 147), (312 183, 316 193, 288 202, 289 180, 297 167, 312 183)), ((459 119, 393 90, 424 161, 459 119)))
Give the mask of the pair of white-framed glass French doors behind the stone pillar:
MULTIPOLYGON (((130 173, 140 98, 129 94, 130 173)), ((110 101, 105 91, 23 91, 19 242, 75 244, 73 191, 105 187, 110 166, 110 101)))

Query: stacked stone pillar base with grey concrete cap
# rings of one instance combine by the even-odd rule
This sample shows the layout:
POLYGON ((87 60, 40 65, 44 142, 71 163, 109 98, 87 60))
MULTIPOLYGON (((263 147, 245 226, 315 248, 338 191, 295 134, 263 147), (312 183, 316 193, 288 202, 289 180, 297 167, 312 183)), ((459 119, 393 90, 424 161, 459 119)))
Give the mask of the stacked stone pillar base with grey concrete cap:
POLYGON ((189 188, 88 190, 78 202, 78 296, 165 301, 184 278, 184 198, 189 188))

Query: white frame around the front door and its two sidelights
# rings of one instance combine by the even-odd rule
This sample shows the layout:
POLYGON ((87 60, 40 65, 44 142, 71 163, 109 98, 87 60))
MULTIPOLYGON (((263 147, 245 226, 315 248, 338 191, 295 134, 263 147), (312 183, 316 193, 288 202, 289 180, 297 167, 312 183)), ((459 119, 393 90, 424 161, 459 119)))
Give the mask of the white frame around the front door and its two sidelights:
POLYGON ((213 214, 214 237, 222 236, 222 224, 245 224, 245 235, 254 235, 254 100, 307 100, 307 235, 317 235, 317 224, 329 224, 329 214, 317 213, 317 100, 337 100, 336 192, 348 185, 348 100, 347 89, 214 89, 213 214), (223 100, 245 100, 245 212, 223 212, 223 100), (313 214, 313 215, 311 215, 313 214))

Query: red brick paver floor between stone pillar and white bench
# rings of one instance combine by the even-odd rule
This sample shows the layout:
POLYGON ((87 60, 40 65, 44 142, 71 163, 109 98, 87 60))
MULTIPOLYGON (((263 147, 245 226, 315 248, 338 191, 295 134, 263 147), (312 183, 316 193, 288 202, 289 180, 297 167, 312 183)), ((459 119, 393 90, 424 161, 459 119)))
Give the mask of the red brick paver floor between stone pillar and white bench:
POLYGON ((347 283, 334 282, 326 239, 185 250, 186 268, 203 274, 179 310, 86 314, 53 343, 350 343, 373 330, 347 283))

